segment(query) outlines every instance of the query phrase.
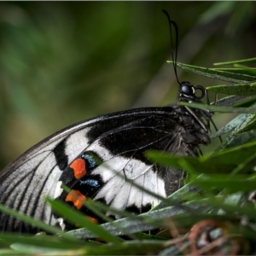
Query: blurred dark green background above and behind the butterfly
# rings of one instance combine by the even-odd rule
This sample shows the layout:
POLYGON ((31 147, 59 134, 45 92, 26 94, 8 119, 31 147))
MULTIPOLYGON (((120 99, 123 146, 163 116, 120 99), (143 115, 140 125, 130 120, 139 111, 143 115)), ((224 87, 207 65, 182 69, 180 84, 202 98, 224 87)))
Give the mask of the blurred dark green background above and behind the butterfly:
MULTIPOLYGON (((254 2, 1 2, 0 169, 67 125, 174 102, 161 9, 178 25, 178 61, 212 67, 255 56, 254 2)), ((217 115, 218 127, 227 118, 217 115)))

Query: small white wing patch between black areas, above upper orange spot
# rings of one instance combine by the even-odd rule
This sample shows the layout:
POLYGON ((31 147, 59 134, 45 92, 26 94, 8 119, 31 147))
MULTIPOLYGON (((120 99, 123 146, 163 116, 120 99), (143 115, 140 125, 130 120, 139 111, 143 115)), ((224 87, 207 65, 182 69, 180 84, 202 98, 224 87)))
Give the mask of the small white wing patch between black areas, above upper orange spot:
POLYGON ((88 131, 90 131, 90 128, 85 128, 67 137, 65 154, 68 157, 68 163, 71 163, 88 147, 88 138, 86 137, 88 131))

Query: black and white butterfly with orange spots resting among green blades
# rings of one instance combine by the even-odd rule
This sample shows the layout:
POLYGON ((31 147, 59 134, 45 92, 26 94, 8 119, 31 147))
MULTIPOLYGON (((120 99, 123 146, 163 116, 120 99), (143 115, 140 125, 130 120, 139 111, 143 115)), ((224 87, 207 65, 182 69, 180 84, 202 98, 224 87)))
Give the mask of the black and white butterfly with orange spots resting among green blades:
MULTIPOLYGON (((201 85, 179 83, 179 102, 201 102, 204 97, 207 91, 201 85)), ((132 183, 166 197, 181 187, 183 172, 158 166, 144 153, 161 150, 198 156, 199 146, 210 143, 212 114, 175 103, 109 113, 57 131, 0 172, 0 203, 61 227, 45 196, 66 201, 92 219, 97 217, 83 206, 88 198, 120 210, 146 212, 160 200, 132 183), (63 190, 63 184, 71 192, 63 190)), ((3 212, 0 230, 38 232, 3 212)))

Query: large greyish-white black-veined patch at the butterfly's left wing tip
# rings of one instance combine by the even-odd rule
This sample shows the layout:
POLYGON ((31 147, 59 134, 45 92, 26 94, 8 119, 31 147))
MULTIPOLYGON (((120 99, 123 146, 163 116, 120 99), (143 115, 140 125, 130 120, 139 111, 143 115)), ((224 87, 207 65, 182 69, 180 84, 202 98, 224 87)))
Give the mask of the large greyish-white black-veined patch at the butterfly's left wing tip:
POLYGON ((44 216, 42 220, 49 223, 51 210, 43 197, 51 195, 60 176, 61 171, 56 166, 55 155, 51 151, 38 151, 14 172, 9 172, 8 179, 1 184, 5 206, 34 218, 42 219, 44 216))

